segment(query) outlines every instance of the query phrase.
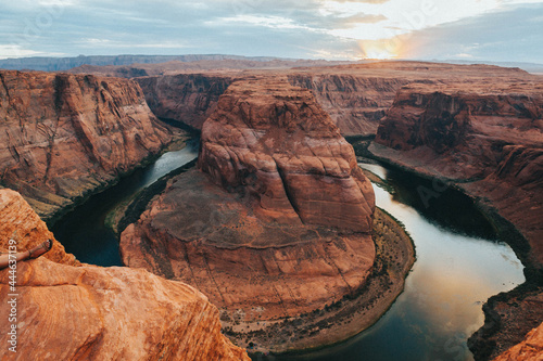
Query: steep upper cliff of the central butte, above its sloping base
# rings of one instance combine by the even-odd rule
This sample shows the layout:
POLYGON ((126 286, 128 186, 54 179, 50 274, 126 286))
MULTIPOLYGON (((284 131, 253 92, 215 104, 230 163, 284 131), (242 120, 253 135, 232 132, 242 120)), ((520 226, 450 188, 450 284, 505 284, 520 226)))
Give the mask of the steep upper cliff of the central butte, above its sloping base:
POLYGON ((199 167, 257 197, 269 219, 371 230, 374 191, 353 147, 310 91, 285 81, 232 83, 204 124, 199 167))

